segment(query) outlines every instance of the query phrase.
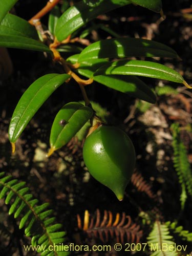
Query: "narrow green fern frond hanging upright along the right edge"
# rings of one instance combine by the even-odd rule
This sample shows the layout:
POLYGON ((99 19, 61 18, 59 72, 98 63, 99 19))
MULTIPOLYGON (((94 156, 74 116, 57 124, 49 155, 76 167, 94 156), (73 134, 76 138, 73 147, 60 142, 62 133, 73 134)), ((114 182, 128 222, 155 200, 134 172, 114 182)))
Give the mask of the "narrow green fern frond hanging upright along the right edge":
POLYGON ((185 188, 188 194, 192 197, 192 172, 187 158, 186 147, 180 138, 179 124, 173 123, 171 128, 173 131, 174 167, 179 177, 179 182, 182 185, 183 195, 181 202, 183 206, 185 202, 184 200, 186 200, 184 193, 185 188))

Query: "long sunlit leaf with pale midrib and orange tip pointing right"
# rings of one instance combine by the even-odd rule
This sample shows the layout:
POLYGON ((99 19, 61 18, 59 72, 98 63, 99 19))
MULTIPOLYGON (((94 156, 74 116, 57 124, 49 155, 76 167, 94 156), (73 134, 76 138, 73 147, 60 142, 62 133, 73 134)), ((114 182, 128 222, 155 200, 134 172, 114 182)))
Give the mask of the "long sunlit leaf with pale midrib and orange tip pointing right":
POLYGON ((108 63, 98 69, 94 76, 98 75, 137 75, 168 81, 185 83, 183 77, 175 70, 159 63, 143 60, 118 60, 108 63))

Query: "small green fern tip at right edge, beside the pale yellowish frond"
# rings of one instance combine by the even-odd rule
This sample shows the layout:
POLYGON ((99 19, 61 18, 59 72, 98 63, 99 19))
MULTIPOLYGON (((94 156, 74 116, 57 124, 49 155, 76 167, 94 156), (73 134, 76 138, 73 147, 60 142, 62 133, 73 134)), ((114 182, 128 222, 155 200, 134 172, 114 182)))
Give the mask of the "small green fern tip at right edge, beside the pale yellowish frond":
POLYGON ((188 230, 184 230, 182 226, 177 226, 177 222, 165 222, 165 225, 173 230, 182 240, 191 242, 192 241, 192 232, 189 233, 188 230))

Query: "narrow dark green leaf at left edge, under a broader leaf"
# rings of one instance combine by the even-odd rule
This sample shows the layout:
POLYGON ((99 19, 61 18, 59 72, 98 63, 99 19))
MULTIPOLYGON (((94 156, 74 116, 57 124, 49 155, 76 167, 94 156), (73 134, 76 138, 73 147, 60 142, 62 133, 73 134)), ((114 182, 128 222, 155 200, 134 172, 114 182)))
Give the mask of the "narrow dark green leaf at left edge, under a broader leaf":
POLYGON ((16 35, 1 35, 0 46, 8 48, 34 50, 40 52, 51 52, 49 47, 42 44, 42 42, 39 42, 32 38, 16 35))

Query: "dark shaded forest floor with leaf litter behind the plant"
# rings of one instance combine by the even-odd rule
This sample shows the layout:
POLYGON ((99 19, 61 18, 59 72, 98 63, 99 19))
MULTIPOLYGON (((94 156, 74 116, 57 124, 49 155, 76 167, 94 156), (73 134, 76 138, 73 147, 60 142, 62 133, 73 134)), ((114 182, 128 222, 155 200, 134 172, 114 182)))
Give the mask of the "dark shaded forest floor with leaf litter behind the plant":
MULTIPOLYGON (((190 84, 192 14, 191 11, 187 12, 190 1, 178 1, 174 7, 170 4, 171 2, 165 3, 165 19, 159 14, 133 6, 130 9, 121 8, 109 15, 99 16, 97 22, 109 26, 122 36, 153 39, 172 47, 182 60, 159 60, 181 73, 190 84)), ((23 14, 22 4, 15 9, 20 15, 23 14)), ((93 31, 88 39, 94 41, 108 36, 107 32, 98 29, 93 31)), ((103 241, 104 244, 114 244, 118 242, 118 238, 120 239, 120 233, 115 228, 111 238, 106 225, 100 227, 100 231, 99 228, 83 231, 77 220, 81 219, 83 226, 86 210, 90 213, 90 219, 93 218, 93 225, 96 223, 96 217, 100 218, 101 223, 103 218, 108 220, 110 215, 113 216, 113 222, 118 213, 120 220, 124 218, 124 214, 129 216, 124 222, 122 221, 123 225, 126 225, 129 219, 131 221, 123 241, 120 240, 124 244, 136 241, 146 242, 151 227, 143 225, 143 214, 148 215, 150 221, 159 220, 163 223, 177 220, 179 225, 192 232, 190 196, 185 202, 184 209, 181 210, 181 185, 173 163, 173 130, 171 129, 173 123, 179 124, 180 138, 186 147, 188 161, 191 164, 192 91, 173 82, 144 79, 157 94, 156 104, 150 104, 103 88, 98 84, 93 88, 88 87, 90 99, 102 106, 106 120, 129 134, 135 146, 137 157, 135 174, 126 188, 123 201, 119 202, 108 188, 94 180, 87 172, 82 159, 82 142, 73 139, 49 159, 46 158, 51 124, 58 109, 69 101, 82 100, 75 84, 70 84, 70 88, 59 88, 52 95, 17 141, 16 153, 11 154, 8 127, 18 99, 37 77, 55 71, 57 67, 54 67, 50 59, 46 59, 40 53, 13 49, 8 51, 13 72, 0 81, 2 92, 0 94, 0 170, 13 175, 20 181, 25 181, 39 203, 50 203, 56 220, 62 223, 67 231, 69 242, 102 245, 103 241), (130 228, 133 229, 131 238, 129 238, 130 228), (109 240, 106 233, 109 235, 109 240)), ((2 65, 5 65, 3 60, 0 60, 2 65)), ((9 71, 4 72, 9 73, 9 71)), ((7 76, 6 73, 1 75, 7 76)), ((0 200, 0 225, 4 225, 11 236, 1 237, 0 226, 0 248, 7 253, 5 255, 18 256, 21 255, 19 246, 29 243, 29 240, 23 237, 21 231, 18 231, 18 223, 12 216, 8 216, 7 212, 8 206, 0 200)), ((181 243, 181 240, 177 241, 181 243)), ((182 243, 187 244, 187 253, 190 253, 191 243, 182 243)), ((33 254, 35 255, 30 253, 30 255, 33 254)), ((23 251, 23 255, 29 254, 23 251)), ((120 254, 111 250, 105 254, 78 251, 74 252, 74 255, 131 254, 127 252, 120 254)), ((136 255, 143 254, 137 252, 136 255)))

